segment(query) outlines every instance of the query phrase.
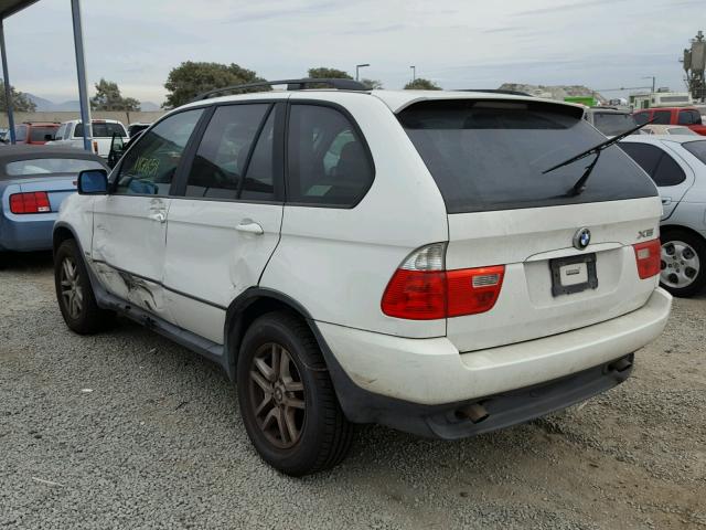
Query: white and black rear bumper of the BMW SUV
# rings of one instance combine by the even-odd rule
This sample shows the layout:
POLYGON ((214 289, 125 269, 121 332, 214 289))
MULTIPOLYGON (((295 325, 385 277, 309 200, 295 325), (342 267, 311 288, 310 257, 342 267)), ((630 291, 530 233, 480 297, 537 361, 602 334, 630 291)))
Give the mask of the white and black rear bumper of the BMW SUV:
POLYGON ((470 353, 443 337, 405 339, 323 322, 317 328, 350 420, 459 437, 546 414, 624 381, 629 369, 609 365, 655 339, 671 306, 672 297, 657 288, 640 309, 606 322, 470 353), (478 402, 494 409, 495 418, 473 428, 468 421, 458 425, 456 411, 478 402))

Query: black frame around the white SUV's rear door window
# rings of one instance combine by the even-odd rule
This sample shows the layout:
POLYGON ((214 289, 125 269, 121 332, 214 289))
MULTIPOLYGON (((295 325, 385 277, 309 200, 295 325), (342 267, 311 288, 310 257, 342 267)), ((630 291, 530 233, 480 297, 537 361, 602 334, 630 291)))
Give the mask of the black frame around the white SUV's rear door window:
MULTIPOLYGON (((201 107, 201 106, 199 106, 201 107)), ((284 146, 282 138, 285 131, 285 112, 286 112, 286 99, 272 99, 270 98, 257 98, 257 99, 243 99, 236 102, 222 102, 222 103, 208 103, 203 105, 203 107, 211 108, 208 113, 208 119, 204 121, 203 126, 194 129, 194 135, 191 137, 193 140, 193 146, 188 146, 188 149, 184 149, 184 156, 182 157, 181 162, 183 162, 183 173, 179 173, 174 176, 174 180, 172 181, 172 188, 170 189, 170 199, 185 199, 189 201, 206 201, 206 202, 238 202, 238 203, 247 203, 247 204, 275 204, 275 205, 284 205, 285 204, 285 174, 284 174, 284 146), (189 172, 191 171, 194 158, 196 157, 196 151, 199 150, 199 146, 201 145, 201 140, 203 135, 206 132, 206 127, 211 123, 211 118, 213 114, 215 114, 217 107, 229 107, 234 105, 257 105, 257 104, 269 104, 270 108, 265 113, 265 119, 260 124, 261 127, 265 127, 267 118, 269 118, 271 113, 275 113, 275 156, 272 160, 272 183, 275 187, 275 199, 274 200, 258 200, 258 199, 224 199, 217 197, 189 197, 186 195, 186 184, 189 181, 189 172), (280 140, 279 142, 277 140, 280 140), (279 145, 278 145, 279 144, 279 145)), ((189 107, 189 109, 195 107, 189 107)), ((151 127, 150 127, 151 128, 151 127)), ((250 152, 248 153, 247 167, 249 166, 250 157, 253 156, 253 148, 259 140, 259 135, 261 129, 258 128, 257 135, 255 137, 255 141, 250 148, 250 152)), ((190 140, 190 142, 191 142, 190 140)), ((149 195, 154 197, 154 195, 149 195)))

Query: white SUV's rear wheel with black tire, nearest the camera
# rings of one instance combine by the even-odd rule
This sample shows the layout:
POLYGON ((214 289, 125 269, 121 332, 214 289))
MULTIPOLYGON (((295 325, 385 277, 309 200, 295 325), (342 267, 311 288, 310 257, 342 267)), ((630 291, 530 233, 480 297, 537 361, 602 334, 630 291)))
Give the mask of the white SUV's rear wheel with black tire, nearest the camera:
POLYGON ((253 445, 276 469, 299 477, 334 467, 347 454, 353 425, 317 340, 293 314, 270 312, 248 328, 238 356, 237 394, 253 445))

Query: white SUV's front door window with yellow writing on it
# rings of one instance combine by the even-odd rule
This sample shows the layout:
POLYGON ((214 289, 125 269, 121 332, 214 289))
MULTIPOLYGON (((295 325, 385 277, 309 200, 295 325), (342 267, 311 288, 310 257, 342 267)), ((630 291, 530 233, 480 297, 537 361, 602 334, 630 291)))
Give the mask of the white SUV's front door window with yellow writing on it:
POLYGON ((115 193, 168 195, 184 152, 203 109, 168 117, 142 135, 120 166, 115 193))

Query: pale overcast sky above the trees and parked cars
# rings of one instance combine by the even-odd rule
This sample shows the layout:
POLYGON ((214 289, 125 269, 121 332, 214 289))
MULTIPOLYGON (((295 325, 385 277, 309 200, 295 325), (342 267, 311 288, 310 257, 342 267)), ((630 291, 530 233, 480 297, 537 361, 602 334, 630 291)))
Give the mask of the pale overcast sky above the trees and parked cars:
MULTIPOLYGON (((83 0, 88 83, 161 104, 183 61, 236 63, 268 78, 330 66, 402 88, 504 82, 685 91, 683 49, 706 31, 705 0, 83 0)), ((77 99, 69 0, 6 20, 10 81, 55 103, 77 99)))

